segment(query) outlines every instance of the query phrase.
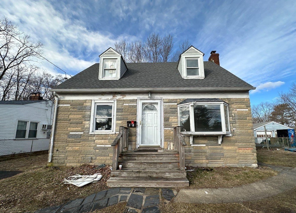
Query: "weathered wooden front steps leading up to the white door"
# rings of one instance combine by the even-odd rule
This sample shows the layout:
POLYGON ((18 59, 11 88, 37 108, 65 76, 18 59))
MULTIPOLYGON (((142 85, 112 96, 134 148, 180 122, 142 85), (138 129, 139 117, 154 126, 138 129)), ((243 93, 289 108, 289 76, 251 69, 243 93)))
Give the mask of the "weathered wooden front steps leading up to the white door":
POLYGON ((179 154, 173 150, 141 150, 121 153, 112 170, 109 187, 185 187, 189 186, 186 171, 180 171, 179 154))

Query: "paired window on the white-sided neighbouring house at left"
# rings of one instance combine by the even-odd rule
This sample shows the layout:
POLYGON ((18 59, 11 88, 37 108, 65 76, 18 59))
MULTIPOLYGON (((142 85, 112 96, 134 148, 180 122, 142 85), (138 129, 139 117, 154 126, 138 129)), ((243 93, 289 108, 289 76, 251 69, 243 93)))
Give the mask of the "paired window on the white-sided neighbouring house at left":
POLYGON ((15 138, 37 138, 38 122, 18 121, 15 138))

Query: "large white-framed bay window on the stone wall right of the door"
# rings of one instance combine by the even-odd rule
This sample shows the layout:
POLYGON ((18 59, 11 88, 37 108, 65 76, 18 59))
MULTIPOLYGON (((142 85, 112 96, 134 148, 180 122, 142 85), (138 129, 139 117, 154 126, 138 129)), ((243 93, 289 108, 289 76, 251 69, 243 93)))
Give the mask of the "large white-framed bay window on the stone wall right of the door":
POLYGON ((178 106, 178 119, 184 134, 229 134, 228 104, 189 102, 178 106))

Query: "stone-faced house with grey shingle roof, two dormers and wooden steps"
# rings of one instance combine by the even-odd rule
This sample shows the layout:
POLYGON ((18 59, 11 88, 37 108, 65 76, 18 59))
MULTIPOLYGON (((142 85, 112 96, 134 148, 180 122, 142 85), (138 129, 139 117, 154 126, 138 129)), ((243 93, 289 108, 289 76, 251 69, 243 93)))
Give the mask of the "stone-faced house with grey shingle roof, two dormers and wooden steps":
POLYGON ((185 165, 256 167, 255 87, 222 68, 216 51, 203 56, 191 46, 177 63, 125 63, 107 49, 52 89, 48 165, 112 164, 109 186, 152 187, 188 185, 185 165))

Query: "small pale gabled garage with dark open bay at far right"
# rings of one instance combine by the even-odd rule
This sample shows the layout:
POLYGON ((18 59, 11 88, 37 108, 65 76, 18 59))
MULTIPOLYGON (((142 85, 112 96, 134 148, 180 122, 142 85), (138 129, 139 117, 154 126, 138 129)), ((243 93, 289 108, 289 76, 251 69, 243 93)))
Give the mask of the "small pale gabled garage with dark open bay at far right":
POLYGON ((295 136, 294 129, 289 126, 285 126, 283 124, 279 124, 275 121, 268 121, 263 123, 255 123, 254 127, 254 135, 256 138, 256 143, 261 143, 266 137, 274 138, 274 137, 291 137, 291 134, 295 136), (286 130, 286 131, 284 131, 286 130), (266 135, 265 135, 266 131, 266 135))

